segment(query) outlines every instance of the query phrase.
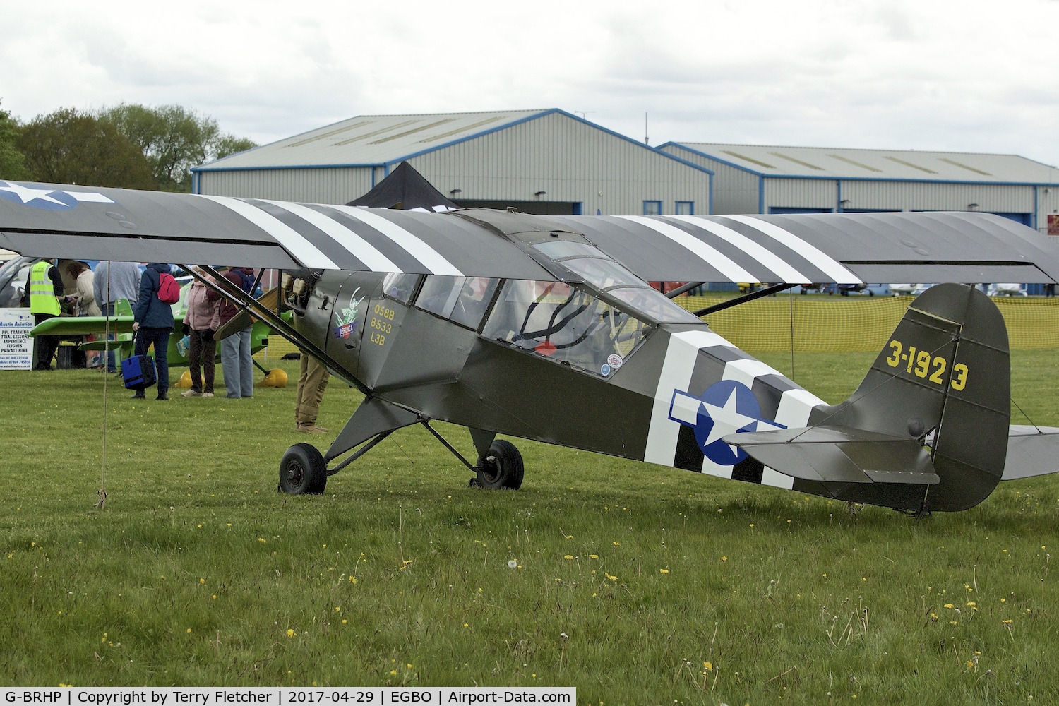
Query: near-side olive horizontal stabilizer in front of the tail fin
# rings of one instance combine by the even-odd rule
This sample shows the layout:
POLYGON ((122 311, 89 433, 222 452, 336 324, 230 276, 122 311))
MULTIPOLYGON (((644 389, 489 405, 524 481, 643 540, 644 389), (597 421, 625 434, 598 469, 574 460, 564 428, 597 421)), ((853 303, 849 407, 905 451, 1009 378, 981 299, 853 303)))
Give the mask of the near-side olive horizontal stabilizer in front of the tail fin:
POLYGON ((934 485, 930 450, 916 439, 846 427, 809 427, 729 434, 767 467, 822 483, 905 483, 934 485))

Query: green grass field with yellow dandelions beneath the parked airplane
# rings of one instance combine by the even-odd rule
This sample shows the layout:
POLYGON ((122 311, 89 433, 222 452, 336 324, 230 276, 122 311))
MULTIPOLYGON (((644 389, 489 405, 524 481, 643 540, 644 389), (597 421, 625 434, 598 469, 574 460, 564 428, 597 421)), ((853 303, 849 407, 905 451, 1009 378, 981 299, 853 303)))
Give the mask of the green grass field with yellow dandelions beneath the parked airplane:
MULTIPOLYGON (((794 377, 838 401, 873 357, 798 354, 794 377)), ((1059 426, 1055 363, 1013 357, 1038 423, 1059 426)), ((290 497, 279 458, 307 440, 293 384, 167 403, 112 385, 96 510, 101 376, 0 373, 0 391, 5 684, 573 685, 592 705, 1057 698, 1056 478, 956 514, 850 517, 518 441, 522 490, 489 492, 409 429, 325 495, 290 497)), ((333 381, 331 434, 313 440, 358 397, 333 381)))

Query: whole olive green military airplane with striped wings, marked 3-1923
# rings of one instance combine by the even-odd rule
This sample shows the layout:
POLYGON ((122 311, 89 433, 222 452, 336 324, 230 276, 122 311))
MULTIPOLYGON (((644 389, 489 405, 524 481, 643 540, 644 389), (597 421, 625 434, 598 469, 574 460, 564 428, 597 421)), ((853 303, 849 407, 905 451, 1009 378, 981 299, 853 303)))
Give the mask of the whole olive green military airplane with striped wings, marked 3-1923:
POLYGON ((523 479, 498 434, 910 512, 1059 470, 1059 429, 1010 426, 1000 312, 958 284, 1059 278, 1055 247, 998 216, 415 213, 19 182, 0 197, 0 247, 22 254, 283 271, 290 325, 202 278, 364 393, 325 453, 284 454, 289 493, 322 492, 412 424, 486 488, 523 479), (944 284, 831 405, 650 280, 778 283, 726 305, 812 282, 944 284), (434 420, 466 427, 477 463, 434 420))

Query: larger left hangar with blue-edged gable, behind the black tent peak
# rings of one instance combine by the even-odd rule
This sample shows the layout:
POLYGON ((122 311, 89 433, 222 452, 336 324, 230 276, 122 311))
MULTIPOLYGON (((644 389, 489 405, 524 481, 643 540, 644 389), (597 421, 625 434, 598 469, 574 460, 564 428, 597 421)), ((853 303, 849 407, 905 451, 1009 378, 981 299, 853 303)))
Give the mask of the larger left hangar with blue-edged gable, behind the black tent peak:
POLYGON ((708 168, 558 109, 359 115, 195 167, 193 191, 347 203, 403 161, 461 206, 711 212, 708 168))

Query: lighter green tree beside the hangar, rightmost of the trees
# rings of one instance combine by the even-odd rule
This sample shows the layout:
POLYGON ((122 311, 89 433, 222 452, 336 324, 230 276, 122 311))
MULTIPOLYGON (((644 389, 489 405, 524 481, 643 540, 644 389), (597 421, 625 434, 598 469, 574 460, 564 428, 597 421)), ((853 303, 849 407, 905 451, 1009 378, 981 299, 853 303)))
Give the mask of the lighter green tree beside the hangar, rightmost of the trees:
POLYGON ((221 133, 209 115, 177 105, 150 108, 123 103, 100 111, 98 117, 140 147, 165 191, 190 192, 191 167, 256 146, 246 138, 221 133))

